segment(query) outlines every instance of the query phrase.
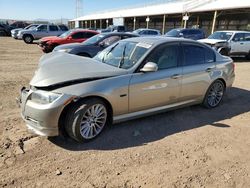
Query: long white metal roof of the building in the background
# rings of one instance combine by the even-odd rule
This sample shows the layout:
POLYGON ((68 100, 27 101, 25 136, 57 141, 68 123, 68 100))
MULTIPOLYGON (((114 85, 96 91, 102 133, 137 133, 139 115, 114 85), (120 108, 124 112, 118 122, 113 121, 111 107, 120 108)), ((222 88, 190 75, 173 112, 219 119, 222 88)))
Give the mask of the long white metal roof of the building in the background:
POLYGON ((98 20, 122 17, 140 17, 162 14, 177 14, 185 12, 204 12, 215 10, 228 10, 250 8, 250 0, 178 0, 163 4, 147 5, 138 8, 119 9, 115 11, 100 12, 82 16, 70 21, 98 20))

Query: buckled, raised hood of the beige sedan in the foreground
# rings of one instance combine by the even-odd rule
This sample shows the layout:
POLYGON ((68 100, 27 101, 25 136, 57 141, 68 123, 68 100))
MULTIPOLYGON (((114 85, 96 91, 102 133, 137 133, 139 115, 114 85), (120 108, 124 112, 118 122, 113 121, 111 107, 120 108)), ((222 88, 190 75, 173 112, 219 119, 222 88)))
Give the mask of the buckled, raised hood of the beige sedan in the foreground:
POLYGON ((124 69, 68 53, 52 52, 41 57, 31 86, 49 87, 127 74, 124 69))

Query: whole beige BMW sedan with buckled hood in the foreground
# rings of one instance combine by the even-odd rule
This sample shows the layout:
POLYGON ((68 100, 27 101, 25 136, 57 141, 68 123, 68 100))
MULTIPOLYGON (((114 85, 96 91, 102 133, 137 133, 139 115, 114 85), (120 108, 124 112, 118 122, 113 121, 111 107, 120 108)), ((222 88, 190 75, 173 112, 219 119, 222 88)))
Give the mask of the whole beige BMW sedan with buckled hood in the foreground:
POLYGON ((55 52, 22 89, 22 117, 38 135, 64 130, 84 142, 107 124, 186 105, 214 108, 234 77, 230 57, 188 39, 130 38, 93 59, 55 52))

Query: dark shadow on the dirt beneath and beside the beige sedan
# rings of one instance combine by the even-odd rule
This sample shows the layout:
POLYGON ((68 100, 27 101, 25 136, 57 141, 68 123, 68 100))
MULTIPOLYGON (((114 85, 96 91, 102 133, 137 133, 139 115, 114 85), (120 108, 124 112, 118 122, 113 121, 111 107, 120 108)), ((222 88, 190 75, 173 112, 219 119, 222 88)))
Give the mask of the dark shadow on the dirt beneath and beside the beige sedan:
POLYGON ((196 105, 127 121, 108 127, 96 139, 83 144, 62 137, 52 137, 49 140, 59 147, 72 151, 123 149, 145 145, 202 126, 227 129, 230 125, 219 121, 248 111, 250 111, 250 91, 231 88, 222 104, 214 109, 196 105))

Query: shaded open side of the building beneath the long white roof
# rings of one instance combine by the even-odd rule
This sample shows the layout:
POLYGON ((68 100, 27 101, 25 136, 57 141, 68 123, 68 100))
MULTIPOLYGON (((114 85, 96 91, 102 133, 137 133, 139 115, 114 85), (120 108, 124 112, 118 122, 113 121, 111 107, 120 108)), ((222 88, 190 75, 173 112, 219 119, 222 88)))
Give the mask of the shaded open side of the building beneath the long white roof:
MULTIPOLYGON (((217 12, 217 18, 215 23, 216 30, 250 30, 250 8, 247 9, 234 9, 234 10, 223 10, 217 12)), ((189 20, 187 21, 187 27, 197 27, 205 31, 206 35, 210 35, 212 31, 214 11, 210 12, 197 12, 189 13, 189 20)), ((141 17, 126 17, 124 18, 124 25, 129 31, 133 31, 134 28, 152 28, 158 29, 161 32, 166 33, 170 29, 180 28, 184 26, 184 21, 182 20, 183 15, 172 14, 165 15, 165 27, 163 28, 163 17, 164 15, 156 16, 141 16, 141 17), (147 24, 147 17, 149 17, 149 22, 147 24), (135 22, 134 22, 135 20, 135 22)), ((108 25, 113 24, 113 19, 102 19, 96 20, 96 25, 94 20, 82 20, 79 22, 79 27, 81 28, 92 28, 96 29, 106 28, 108 25), (108 20, 108 22, 107 22, 108 20), (91 23, 91 24, 90 24, 91 23)), ((74 24, 69 24, 74 27, 74 24)))

